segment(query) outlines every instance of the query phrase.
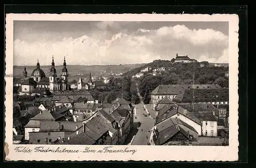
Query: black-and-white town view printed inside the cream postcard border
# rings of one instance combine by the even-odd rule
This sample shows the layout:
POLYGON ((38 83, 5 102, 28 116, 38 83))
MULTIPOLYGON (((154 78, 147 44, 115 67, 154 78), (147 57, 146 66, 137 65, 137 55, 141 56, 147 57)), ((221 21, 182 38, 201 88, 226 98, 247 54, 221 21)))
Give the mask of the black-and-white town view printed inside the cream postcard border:
POLYGON ((13 20, 14 151, 228 147, 229 30, 228 20, 13 20))

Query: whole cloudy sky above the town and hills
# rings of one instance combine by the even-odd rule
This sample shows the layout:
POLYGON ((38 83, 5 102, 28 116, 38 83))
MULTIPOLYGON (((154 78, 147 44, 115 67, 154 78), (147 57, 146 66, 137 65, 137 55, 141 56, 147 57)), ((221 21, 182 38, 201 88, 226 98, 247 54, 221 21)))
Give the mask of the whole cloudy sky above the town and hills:
POLYGON ((228 22, 14 21, 14 65, 150 63, 187 55, 228 63, 228 22))

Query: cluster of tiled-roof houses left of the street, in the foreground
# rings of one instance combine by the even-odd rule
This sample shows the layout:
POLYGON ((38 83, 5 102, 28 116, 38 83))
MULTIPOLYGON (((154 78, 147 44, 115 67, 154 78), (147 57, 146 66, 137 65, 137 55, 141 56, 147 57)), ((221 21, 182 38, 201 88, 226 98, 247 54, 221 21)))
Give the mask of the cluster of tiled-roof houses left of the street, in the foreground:
POLYGON ((30 144, 122 145, 133 128, 134 107, 123 98, 112 104, 62 99, 54 107, 30 107, 13 118, 13 142, 30 144), (68 102, 69 101, 69 102, 68 102), (35 116, 31 111, 40 109, 35 116), (24 121, 27 117, 27 121, 24 121))

